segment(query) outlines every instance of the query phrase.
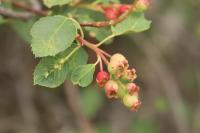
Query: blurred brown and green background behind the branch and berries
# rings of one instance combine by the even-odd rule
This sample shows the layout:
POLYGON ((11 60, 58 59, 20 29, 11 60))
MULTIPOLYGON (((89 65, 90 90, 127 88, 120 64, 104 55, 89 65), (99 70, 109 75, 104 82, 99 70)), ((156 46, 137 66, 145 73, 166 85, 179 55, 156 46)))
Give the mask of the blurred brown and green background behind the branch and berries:
POLYGON ((1 25, 0 133, 200 133, 199 12, 198 0, 153 0, 149 31, 103 47, 137 70, 142 106, 134 113, 95 85, 33 86, 28 24, 1 25))

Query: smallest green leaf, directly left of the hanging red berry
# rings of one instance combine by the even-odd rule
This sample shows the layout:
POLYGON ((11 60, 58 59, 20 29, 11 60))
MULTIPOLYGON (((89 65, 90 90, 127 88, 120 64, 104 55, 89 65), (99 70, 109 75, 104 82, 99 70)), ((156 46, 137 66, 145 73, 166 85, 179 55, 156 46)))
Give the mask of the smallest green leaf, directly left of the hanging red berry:
POLYGON ((95 64, 81 65, 74 69, 71 80, 73 84, 81 87, 87 87, 92 83, 93 75, 95 71, 95 64))

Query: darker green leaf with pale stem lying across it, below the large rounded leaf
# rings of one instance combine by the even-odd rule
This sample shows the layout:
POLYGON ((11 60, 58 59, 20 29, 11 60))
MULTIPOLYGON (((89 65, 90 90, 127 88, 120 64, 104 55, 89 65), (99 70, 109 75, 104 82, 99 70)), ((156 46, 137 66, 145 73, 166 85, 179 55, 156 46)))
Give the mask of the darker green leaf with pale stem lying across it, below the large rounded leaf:
POLYGON ((79 65, 87 63, 88 55, 83 48, 70 47, 54 56, 45 57, 37 65, 34 72, 34 84, 55 88, 66 78, 71 77, 72 71, 79 65), (71 53, 74 51, 74 53, 71 53))

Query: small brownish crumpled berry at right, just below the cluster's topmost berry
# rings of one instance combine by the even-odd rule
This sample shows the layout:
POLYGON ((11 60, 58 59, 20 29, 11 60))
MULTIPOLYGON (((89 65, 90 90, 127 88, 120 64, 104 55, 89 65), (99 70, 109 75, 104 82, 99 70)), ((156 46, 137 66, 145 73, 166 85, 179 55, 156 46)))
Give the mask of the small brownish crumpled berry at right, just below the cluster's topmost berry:
POLYGON ((137 78, 136 70, 135 69, 129 69, 126 70, 122 75, 122 80, 127 82, 133 82, 137 78))

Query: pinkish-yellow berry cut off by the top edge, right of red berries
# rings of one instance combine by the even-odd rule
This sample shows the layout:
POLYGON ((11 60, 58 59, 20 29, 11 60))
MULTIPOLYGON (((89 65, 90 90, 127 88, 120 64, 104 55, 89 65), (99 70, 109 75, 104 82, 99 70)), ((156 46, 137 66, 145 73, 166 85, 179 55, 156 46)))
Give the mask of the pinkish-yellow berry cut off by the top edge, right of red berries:
POLYGON ((146 11, 150 6, 150 0, 138 0, 135 9, 137 11, 146 11))

